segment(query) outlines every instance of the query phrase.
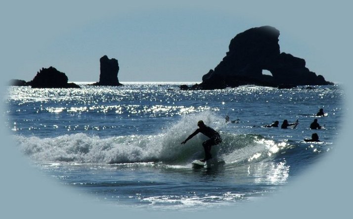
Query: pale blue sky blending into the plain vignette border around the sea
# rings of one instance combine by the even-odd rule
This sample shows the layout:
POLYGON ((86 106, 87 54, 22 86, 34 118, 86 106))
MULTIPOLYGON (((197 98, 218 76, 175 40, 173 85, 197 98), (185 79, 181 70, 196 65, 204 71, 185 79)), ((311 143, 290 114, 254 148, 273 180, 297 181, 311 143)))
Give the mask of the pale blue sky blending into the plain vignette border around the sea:
MULTIPOLYGON (((312 165, 312 171, 293 179, 273 199, 183 217, 124 211, 80 198, 31 169, 0 126, 0 173, 12 179, 0 180, 0 215, 5 216, 1 218, 324 219, 351 215, 352 8, 344 0, 1 1, 3 84, 10 79, 32 80, 49 66, 64 72, 69 81, 96 82, 103 55, 118 59, 121 82, 198 82, 221 61, 236 34, 270 25, 280 31, 282 52, 304 58, 311 71, 340 83, 347 93, 347 117, 325 162, 312 165)), ((1 87, 2 93, 6 89, 1 87)))

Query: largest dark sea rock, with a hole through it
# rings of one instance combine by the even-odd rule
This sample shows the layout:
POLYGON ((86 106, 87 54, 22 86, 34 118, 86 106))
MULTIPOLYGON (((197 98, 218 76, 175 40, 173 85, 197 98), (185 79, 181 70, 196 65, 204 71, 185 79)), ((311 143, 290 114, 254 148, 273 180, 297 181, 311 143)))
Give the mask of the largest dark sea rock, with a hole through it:
POLYGON ((274 27, 251 28, 236 35, 229 51, 216 66, 202 77, 202 83, 182 89, 219 89, 241 85, 292 87, 299 85, 331 85, 321 75, 305 67, 305 60, 280 53, 279 31, 274 27), (263 75, 268 70, 271 75, 263 75))

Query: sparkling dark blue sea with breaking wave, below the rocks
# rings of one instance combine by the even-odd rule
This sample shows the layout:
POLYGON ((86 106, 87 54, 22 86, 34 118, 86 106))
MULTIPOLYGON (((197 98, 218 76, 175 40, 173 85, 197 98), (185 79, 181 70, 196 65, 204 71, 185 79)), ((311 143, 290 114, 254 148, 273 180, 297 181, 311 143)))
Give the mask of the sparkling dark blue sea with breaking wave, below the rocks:
POLYGON ((344 91, 339 85, 277 89, 241 86, 180 90, 180 84, 121 87, 9 87, 5 126, 21 153, 78 195, 148 209, 203 209, 256 202, 299 178, 339 145, 344 91), (328 113, 316 117, 320 108, 328 113), (235 123, 225 123, 225 116, 235 123), (264 128, 274 121, 296 129, 264 128), (317 119, 324 129, 310 130, 317 119), (207 168, 203 120, 219 131, 207 168), (320 142, 305 142, 316 132, 320 142))

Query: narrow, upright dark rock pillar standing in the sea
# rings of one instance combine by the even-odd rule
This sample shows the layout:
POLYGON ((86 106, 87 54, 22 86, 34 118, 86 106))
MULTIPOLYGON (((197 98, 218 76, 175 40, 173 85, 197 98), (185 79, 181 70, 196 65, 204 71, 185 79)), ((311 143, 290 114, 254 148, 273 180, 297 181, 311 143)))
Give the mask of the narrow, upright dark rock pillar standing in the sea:
POLYGON ((109 59, 104 55, 99 59, 100 61, 100 74, 99 82, 92 85, 96 86, 120 86, 118 80, 119 64, 115 58, 109 59))

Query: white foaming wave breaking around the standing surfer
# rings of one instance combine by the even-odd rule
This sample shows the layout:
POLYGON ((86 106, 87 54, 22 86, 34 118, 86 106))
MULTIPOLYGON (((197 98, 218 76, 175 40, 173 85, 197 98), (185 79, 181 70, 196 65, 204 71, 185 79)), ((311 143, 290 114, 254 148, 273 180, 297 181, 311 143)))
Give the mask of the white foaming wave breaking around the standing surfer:
MULTIPOLYGON (((125 135, 102 138, 85 133, 65 134, 52 138, 15 136, 24 154, 37 162, 123 164, 163 162, 189 164, 204 156, 202 142, 208 138, 199 133, 186 144, 182 142, 204 119, 216 130, 226 130, 223 118, 205 112, 183 117, 154 135, 125 135)), ((225 164, 243 164, 276 158, 291 148, 286 142, 266 139, 258 134, 235 134, 220 131, 222 143, 212 148, 214 158, 225 164)), ((292 145, 293 147, 294 145, 292 145)))

